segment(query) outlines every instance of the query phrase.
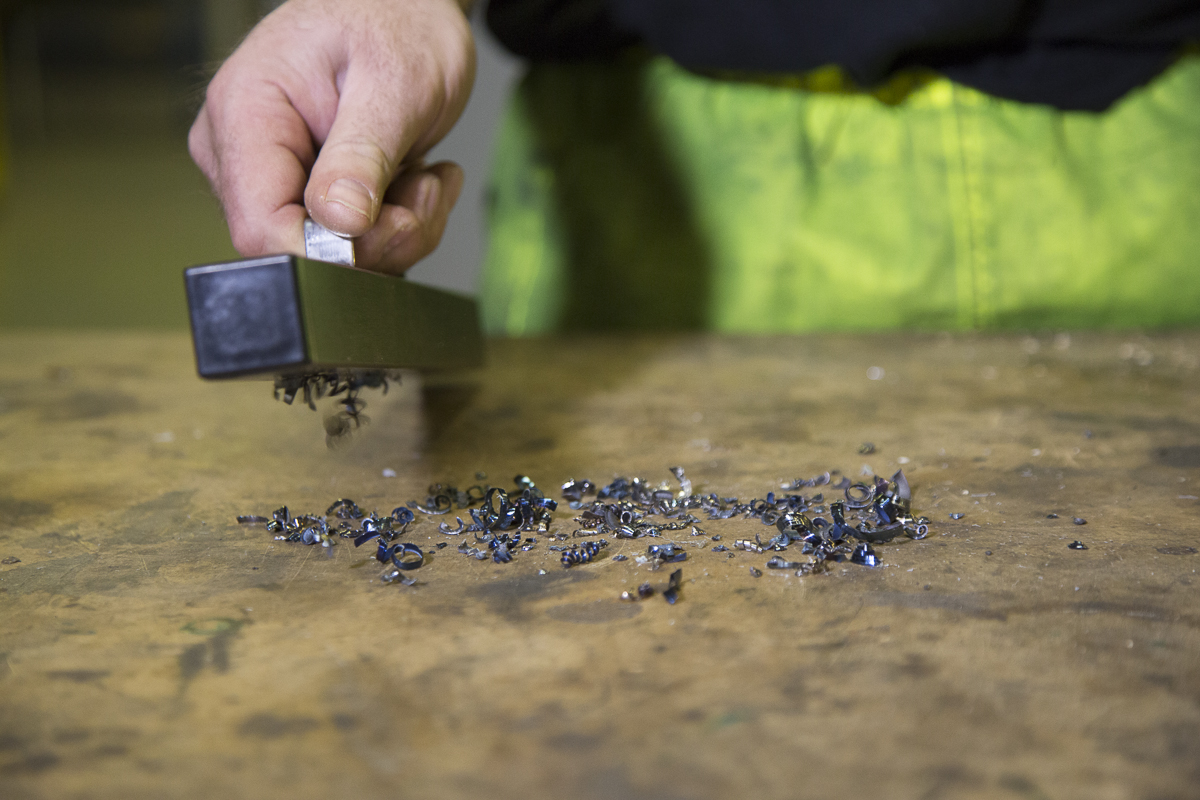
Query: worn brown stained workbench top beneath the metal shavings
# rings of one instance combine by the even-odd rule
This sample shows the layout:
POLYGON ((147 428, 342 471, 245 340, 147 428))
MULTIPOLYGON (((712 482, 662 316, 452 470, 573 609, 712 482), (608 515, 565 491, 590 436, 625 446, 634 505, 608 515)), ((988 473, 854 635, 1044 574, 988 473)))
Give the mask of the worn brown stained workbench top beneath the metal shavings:
POLYGON ((1198 363, 1193 333, 497 343, 329 450, 185 336, 6 335, 0 796, 1198 798, 1198 363), (646 541, 497 565, 421 519, 451 547, 406 588, 234 522, 864 462, 905 465, 928 540, 754 578, 686 537, 676 606, 617 599, 665 583, 608 558, 646 541))

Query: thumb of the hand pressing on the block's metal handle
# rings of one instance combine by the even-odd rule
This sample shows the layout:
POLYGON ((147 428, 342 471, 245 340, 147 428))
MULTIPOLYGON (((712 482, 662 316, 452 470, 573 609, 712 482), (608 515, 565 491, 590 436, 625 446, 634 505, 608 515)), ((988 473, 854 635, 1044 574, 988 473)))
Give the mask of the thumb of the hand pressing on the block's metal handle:
POLYGON ((305 188, 308 215, 344 236, 361 236, 374 225, 388 185, 419 133, 403 100, 380 92, 378 84, 347 73, 305 188))

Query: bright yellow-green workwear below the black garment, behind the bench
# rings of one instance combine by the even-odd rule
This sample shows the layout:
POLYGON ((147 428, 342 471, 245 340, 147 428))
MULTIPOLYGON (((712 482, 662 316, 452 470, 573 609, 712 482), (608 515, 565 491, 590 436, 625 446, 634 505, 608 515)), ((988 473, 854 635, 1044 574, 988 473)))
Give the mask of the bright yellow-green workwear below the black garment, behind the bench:
POLYGON ((1200 58, 1103 114, 936 76, 536 65, 488 198, 490 331, 1200 323, 1200 58))

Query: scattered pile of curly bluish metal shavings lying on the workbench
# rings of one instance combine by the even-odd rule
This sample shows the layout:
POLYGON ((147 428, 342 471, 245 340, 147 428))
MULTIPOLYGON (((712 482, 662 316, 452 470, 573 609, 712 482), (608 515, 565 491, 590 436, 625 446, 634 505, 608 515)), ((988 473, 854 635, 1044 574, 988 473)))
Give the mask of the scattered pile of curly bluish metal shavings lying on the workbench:
MULTIPOLYGON (((425 564, 425 553, 415 543, 398 540, 420 517, 445 516, 455 510, 466 510, 470 522, 464 523, 461 516, 455 518, 455 525, 439 522, 438 533, 463 536, 458 553, 480 561, 509 564, 517 554, 545 542, 547 552, 553 553, 564 569, 601 558, 610 545, 607 537, 656 540, 647 546, 644 555, 636 558, 637 564, 648 564, 650 570, 688 560, 689 546, 691 549, 702 546, 695 537, 707 537, 713 543, 709 548, 713 553, 725 553, 725 558, 734 558, 734 551, 769 553, 763 564, 767 570, 784 570, 803 577, 827 572, 832 565, 841 563, 874 567, 880 564, 874 546, 901 536, 919 540, 929 535, 929 519, 912 513, 912 489, 904 471, 890 479, 874 476, 869 482, 857 483, 845 476, 834 480, 839 473, 824 473, 786 482, 780 493, 768 492, 766 498, 746 503, 694 493, 683 468, 672 467, 671 473, 677 489, 666 482, 654 485, 641 477, 617 477, 602 488, 588 480, 563 483, 562 497, 576 512, 575 529, 570 534, 552 529, 558 503, 524 475, 517 475, 510 489, 482 483, 460 489, 436 483, 424 500, 409 500, 386 516, 367 513, 353 500, 340 499, 324 515, 293 516, 283 506, 270 517, 240 516, 238 522, 263 524, 276 540, 300 545, 329 548, 341 539, 352 539, 355 547, 361 547, 373 541, 374 558, 386 566, 380 579, 409 587, 416 581, 406 573, 425 564), (814 488, 822 491, 800 493, 800 489, 814 488), (839 499, 827 500, 826 493, 834 492, 839 493, 839 499), (731 549, 718 543, 720 534, 709 535, 700 528, 706 521, 732 518, 755 519, 773 528, 774 533, 766 539, 762 534, 738 539, 731 549), (683 531, 686 531, 686 540, 670 541, 672 535, 682 536, 683 531), (467 535, 470 539, 466 539, 467 535), (586 541, 565 543, 571 539, 586 541), (806 558, 793 560, 792 554, 806 558)), ((442 549, 446 542, 438 542, 437 547, 442 549)), ((617 554, 612 560, 625 561, 628 557, 617 554)), ((750 575, 757 578, 763 572, 751 566, 750 575)), ((677 569, 662 590, 668 603, 679 600, 682 582, 683 570, 677 569)), ((620 599, 638 601, 654 594, 654 587, 643 583, 636 593, 622 593, 620 599)))

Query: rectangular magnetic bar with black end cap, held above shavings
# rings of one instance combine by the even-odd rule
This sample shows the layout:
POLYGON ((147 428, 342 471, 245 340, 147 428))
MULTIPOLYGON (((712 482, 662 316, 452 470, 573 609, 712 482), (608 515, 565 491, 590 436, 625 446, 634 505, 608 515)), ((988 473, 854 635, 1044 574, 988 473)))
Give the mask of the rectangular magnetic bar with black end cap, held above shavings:
POLYGON ((204 378, 482 365, 470 297, 295 255, 184 272, 204 378))

